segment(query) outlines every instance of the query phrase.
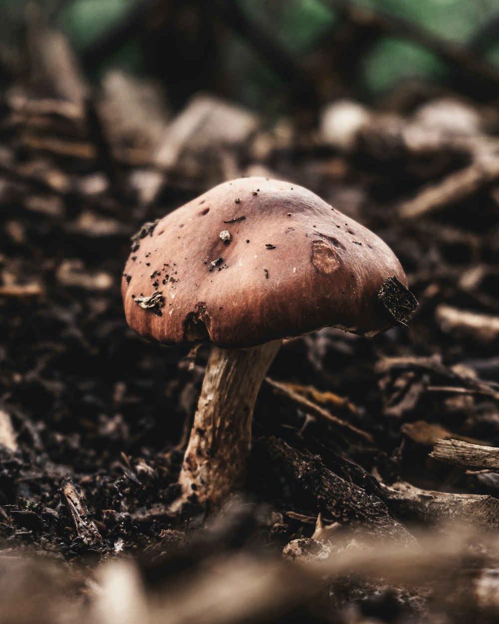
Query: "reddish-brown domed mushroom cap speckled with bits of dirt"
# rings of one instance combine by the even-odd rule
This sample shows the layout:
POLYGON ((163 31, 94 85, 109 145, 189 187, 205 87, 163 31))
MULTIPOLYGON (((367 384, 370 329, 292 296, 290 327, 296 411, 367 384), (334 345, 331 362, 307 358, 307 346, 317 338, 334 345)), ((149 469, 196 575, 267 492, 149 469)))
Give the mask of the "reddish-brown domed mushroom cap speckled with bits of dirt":
POLYGON ((394 324, 378 294, 406 284, 374 233, 306 188, 241 178, 133 237, 127 322, 164 344, 243 348, 324 326, 373 335, 394 324))

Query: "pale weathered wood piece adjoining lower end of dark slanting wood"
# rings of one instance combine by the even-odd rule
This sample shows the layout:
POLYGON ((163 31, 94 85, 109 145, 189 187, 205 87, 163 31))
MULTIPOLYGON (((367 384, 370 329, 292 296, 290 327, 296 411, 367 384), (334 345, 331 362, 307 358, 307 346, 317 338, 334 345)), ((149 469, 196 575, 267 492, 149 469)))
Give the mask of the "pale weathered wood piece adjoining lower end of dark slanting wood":
POLYGON ((380 485, 397 517, 425 523, 461 522, 482 530, 499 528, 499 500, 493 496, 422 490, 404 481, 380 485))

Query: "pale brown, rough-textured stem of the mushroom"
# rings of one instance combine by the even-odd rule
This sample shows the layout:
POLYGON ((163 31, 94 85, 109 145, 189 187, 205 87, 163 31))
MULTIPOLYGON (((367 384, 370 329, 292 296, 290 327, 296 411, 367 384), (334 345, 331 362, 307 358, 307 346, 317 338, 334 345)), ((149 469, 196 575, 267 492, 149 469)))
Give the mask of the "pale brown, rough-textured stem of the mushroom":
POLYGON ((215 509, 243 484, 254 402, 281 343, 211 349, 180 472, 180 504, 195 495, 202 507, 215 509))

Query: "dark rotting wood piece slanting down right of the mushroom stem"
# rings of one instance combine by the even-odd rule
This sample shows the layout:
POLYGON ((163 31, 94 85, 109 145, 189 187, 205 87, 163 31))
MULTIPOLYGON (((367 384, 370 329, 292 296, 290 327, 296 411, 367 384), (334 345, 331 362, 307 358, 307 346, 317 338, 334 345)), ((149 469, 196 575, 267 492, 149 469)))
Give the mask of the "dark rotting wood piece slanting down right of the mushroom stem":
MULTIPOLYGON (((382 500, 331 472, 319 456, 297 451, 274 437, 256 441, 252 455, 280 484, 288 484, 286 489, 292 484, 290 503, 299 505, 299 500, 306 499, 317 514, 320 512, 377 539, 394 539, 406 544, 414 540, 390 515, 382 500)), ((274 479, 269 476, 269 487, 276 487, 272 491, 282 490, 282 485, 273 483, 274 479)), ((285 490, 281 491, 281 496, 286 496, 285 490)))

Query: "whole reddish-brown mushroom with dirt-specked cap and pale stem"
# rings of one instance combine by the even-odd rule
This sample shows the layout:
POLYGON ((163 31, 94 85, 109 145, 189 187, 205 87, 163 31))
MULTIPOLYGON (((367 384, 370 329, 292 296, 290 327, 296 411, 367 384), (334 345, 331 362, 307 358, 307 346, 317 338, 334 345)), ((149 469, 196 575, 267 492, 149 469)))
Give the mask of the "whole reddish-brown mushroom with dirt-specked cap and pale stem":
POLYGON ((225 182, 144 225, 132 250, 130 327, 163 344, 213 344, 178 506, 213 509, 243 484, 254 402, 283 338, 324 326, 372 336, 415 307, 383 241, 288 182, 225 182))

